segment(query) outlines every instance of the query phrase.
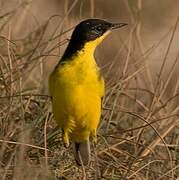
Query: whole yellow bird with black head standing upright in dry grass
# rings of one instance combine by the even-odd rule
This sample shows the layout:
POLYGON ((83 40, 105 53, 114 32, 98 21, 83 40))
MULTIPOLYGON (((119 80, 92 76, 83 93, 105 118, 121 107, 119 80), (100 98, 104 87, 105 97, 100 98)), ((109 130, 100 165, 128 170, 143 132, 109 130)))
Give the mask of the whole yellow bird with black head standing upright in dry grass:
POLYGON ((69 147, 72 142, 74 158, 79 166, 86 166, 91 160, 90 141, 97 143, 105 94, 104 78, 94 52, 112 30, 126 25, 103 19, 81 21, 49 76, 54 119, 62 129, 64 146, 69 147))

